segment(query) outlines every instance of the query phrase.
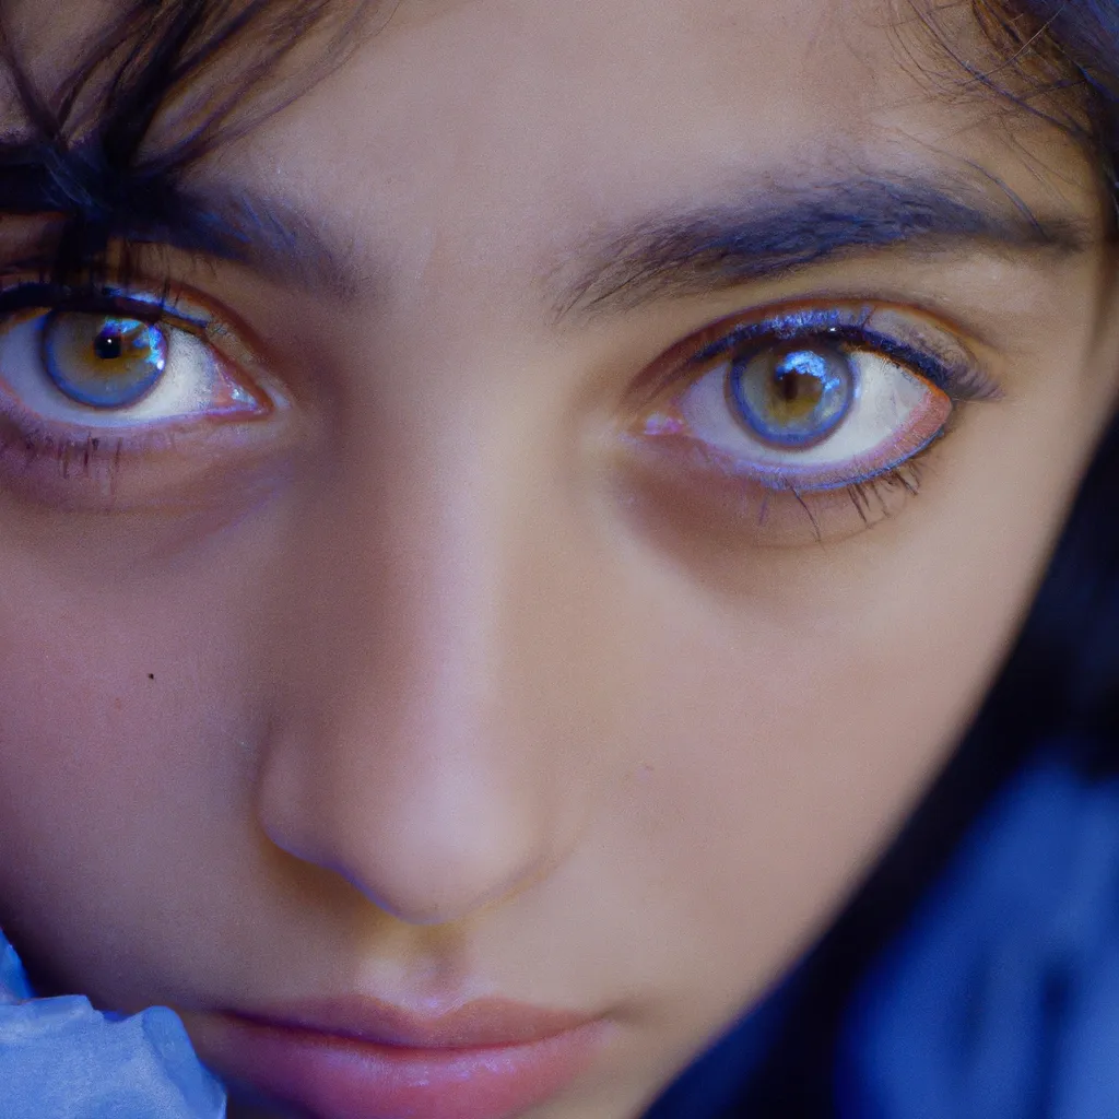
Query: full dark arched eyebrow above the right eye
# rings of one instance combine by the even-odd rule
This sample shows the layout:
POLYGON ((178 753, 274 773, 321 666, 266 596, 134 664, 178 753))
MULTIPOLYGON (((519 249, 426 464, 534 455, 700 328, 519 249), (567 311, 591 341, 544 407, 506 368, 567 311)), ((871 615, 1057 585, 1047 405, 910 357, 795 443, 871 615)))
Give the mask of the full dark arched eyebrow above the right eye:
MULTIPOLYGON (((996 180, 997 181, 997 180, 996 180)), ((1101 223, 1102 225, 1102 223, 1101 223)), ((905 243, 922 252, 1076 253, 1102 237, 1087 218, 1037 215, 1007 188, 862 178, 746 192, 599 232, 552 270, 557 319, 772 280, 840 255, 905 243)))

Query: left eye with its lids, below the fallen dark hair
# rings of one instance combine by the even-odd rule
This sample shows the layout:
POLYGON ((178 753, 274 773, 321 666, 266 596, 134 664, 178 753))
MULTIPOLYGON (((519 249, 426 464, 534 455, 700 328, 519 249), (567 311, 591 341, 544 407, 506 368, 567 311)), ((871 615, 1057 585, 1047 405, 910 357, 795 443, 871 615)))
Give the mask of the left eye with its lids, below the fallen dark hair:
POLYGON ((181 504, 207 471, 263 461, 283 425, 260 421, 285 404, 242 332, 186 297, 0 291, 0 489, 12 496, 181 504))

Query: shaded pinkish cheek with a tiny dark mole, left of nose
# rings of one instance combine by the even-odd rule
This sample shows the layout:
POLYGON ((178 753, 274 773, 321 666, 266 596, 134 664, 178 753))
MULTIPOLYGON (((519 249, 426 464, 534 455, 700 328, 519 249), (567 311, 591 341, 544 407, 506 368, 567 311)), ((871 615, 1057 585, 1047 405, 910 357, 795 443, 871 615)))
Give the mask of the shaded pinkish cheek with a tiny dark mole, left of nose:
POLYGON ((69 554, 9 552, 4 572, 0 924, 27 930, 32 958, 65 961, 69 989, 126 990, 105 977, 141 969, 168 906, 190 912, 244 816, 245 589, 203 556, 133 573, 131 590, 95 586, 69 554))

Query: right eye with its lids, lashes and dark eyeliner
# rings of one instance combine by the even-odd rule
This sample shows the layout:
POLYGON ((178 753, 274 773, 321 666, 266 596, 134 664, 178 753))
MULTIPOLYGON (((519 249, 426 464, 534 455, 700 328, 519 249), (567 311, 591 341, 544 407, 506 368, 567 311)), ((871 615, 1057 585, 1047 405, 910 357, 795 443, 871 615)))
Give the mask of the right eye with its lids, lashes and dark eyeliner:
POLYGON ((888 516, 916 492, 916 460, 958 402, 998 393, 946 328, 880 305, 716 325, 666 364, 627 444, 660 480, 706 487, 762 543, 888 516))

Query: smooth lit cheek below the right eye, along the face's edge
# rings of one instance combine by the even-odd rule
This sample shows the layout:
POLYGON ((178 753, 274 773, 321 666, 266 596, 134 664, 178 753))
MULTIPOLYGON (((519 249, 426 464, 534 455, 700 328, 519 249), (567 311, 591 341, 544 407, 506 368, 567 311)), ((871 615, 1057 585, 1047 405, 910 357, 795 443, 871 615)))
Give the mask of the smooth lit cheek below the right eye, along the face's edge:
POLYGON ((755 995, 955 747, 1091 445, 1049 403, 961 427, 910 508, 835 548, 742 549, 730 571, 638 546, 610 622, 633 768, 608 841, 658 897, 649 951, 680 1000, 755 995))

